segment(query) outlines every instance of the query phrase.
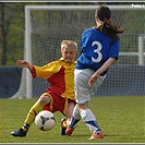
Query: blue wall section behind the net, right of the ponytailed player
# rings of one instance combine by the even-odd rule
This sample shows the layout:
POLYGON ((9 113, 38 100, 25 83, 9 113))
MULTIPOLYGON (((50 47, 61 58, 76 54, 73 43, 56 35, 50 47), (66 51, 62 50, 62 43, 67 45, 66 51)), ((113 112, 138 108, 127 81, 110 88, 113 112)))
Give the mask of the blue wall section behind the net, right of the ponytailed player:
POLYGON ((97 96, 145 96, 145 65, 110 68, 97 96))

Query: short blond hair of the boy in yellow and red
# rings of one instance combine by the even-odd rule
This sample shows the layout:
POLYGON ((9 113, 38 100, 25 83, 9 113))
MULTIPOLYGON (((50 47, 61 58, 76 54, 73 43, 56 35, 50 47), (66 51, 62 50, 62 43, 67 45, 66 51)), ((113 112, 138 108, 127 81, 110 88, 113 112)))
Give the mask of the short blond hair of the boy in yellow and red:
POLYGON ((72 40, 62 40, 61 41, 61 51, 63 48, 65 47, 71 47, 73 48, 75 51, 77 51, 77 44, 75 41, 72 40))

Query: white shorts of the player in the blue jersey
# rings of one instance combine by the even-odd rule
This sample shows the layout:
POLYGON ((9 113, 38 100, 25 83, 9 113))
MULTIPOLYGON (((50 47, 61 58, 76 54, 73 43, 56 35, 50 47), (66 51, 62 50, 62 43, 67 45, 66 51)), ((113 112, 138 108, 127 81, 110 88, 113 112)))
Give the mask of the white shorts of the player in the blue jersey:
POLYGON ((74 90, 77 104, 84 104, 89 101, 93 95, 97 92, 101 83, 104 82, 106 75, 99 76, 95 84, 89 87, 88 81, 95 71, 89 69, 76 70, 74 71, 74 90))

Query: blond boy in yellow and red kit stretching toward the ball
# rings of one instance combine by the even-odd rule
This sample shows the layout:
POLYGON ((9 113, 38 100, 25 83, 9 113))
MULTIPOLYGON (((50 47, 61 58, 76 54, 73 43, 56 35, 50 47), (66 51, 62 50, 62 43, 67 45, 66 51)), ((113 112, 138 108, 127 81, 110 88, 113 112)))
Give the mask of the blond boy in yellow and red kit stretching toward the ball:
MULTIPOLYGON (((12 131, 11 135, 20 137, 26 136, 36 114, 41 110, 48 110, 51 112, 60 111, 68 120, 71 118, 75 106, 74 69, 76 62, 74 61, 74 58, 76 51, 76 43, 72 40, 62 40, 62 57, 57 61, 50 62, 44 67, 36 67, 29 64, 25 60, 17 60, 19 67, 27 68, 34 78, 40 76, 47 80, 50 87, 47 88, 46 93, 44 93, 29 109, 22 128, 17 131, 12 131)), ((64 135, 65 128, 63 129, 61 129, 61 135, 64 135)))

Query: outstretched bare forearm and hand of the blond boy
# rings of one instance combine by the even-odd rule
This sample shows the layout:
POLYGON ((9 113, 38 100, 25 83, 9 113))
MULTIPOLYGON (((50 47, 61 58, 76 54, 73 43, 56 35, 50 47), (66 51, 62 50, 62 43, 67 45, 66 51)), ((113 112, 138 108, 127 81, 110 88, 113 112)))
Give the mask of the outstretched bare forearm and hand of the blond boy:
POLYGON ((33 72, 33 65, 31 65, 27 61, 25 60, 17 60, 16 64, 21 68, 27 68, 31 72, 33 72))

